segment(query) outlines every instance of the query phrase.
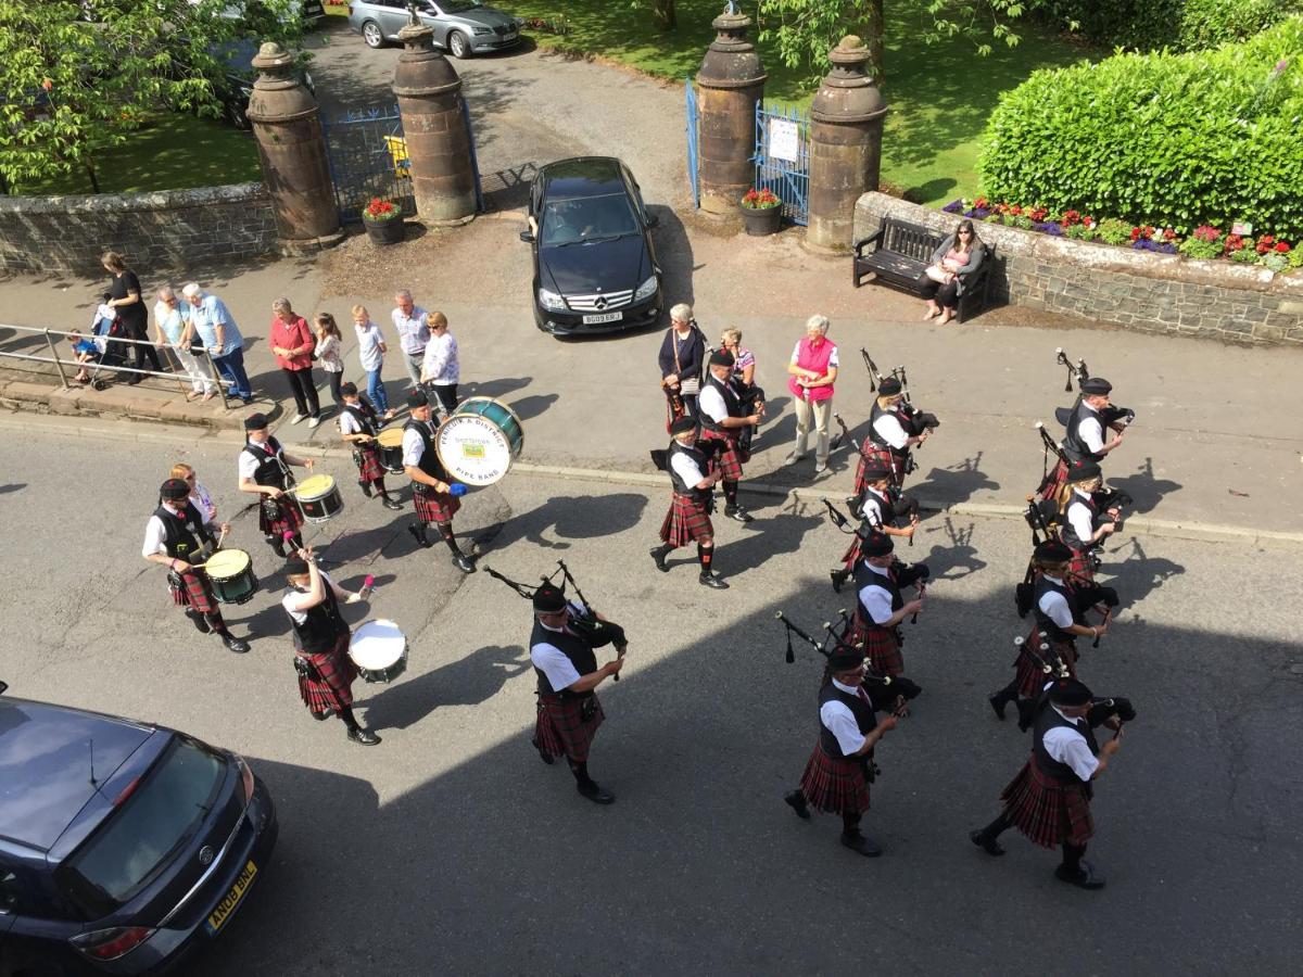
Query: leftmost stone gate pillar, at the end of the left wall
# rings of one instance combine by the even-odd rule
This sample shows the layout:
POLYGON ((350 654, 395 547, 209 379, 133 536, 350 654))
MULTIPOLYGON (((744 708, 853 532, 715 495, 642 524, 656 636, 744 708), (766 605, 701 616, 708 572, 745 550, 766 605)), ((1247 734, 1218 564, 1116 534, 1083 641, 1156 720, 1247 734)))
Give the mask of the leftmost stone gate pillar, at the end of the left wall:
POLYGON ((293 64, 293 55, 279 44, 268 42, 258 48, 249 121, 280 242, 289 251, 310 251, 339 244, 344 234, 317 99, 292 70, 293 64))

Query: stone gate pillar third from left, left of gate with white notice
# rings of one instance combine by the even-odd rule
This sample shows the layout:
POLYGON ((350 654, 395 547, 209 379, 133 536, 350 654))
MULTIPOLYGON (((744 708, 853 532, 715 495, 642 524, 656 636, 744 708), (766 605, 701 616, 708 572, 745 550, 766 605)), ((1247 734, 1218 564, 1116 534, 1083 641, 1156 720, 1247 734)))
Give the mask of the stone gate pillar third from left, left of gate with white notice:
POLYGON ((701 89, 698 175, 701 208, 735 215, 754 176, 756 104, 765 95, 764 66, 747 40, 751 17, 728 4, 710 22, 717 36, 697 72, 701 89))

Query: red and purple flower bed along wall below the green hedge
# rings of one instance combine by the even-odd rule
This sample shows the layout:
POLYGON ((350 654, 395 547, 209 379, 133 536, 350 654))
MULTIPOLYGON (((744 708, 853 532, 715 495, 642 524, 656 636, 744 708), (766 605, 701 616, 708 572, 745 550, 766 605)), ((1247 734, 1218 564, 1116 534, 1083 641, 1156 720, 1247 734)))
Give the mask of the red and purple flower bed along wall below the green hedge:
POLYGON ((1252 228, 1234 225, 1230 232, 1204 224, 1182 237, 1174 228, 1156 228, 1148 224, 1134 227, 1117 218, 1096 220, 1089 214, 1067 210, 1050 214, 1045 207, 1027 207, 1019 203, 992 202, 985 197, 951 201, 943 211, 962 214, 972 220, 1035 231, 1053 237, 1071 237, 1078 241, 1131 248, 1136 251, 1182 254, 1187 258, 1225 258, 1244 264, 1260 264, 1273 272, 1303 267, 1303 241, 1280 240, 1272 234, 1252 237, 1252 228))

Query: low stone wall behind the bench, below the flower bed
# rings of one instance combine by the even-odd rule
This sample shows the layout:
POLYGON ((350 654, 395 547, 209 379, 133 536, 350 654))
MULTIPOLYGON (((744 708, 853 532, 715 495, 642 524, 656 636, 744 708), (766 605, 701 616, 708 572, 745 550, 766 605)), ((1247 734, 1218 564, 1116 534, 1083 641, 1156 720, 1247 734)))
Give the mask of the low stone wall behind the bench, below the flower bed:
MULTIPOLYGON (((866 193, 855 205, 855 240, 890 215, 950 233, 960 218, 866 193)), ((977 221, 997 248, 992 297, 1029 309, 1080 315, 1143 332, 1233 343, 1303 345, 1303 275, 1273 275, 1233 262, 1050 237, 977 221)))

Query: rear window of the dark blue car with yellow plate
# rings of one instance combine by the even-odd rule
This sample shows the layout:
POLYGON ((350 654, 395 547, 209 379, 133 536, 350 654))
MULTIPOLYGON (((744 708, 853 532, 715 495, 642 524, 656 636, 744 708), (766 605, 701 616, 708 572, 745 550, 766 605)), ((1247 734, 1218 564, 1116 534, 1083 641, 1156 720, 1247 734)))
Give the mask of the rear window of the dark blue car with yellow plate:
POLYGON ((130 900, 211 810, 225 761, 185 737, 59 869, 59 882, 90 918, 130 900))

